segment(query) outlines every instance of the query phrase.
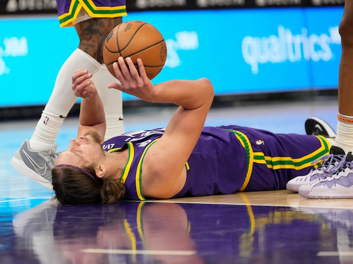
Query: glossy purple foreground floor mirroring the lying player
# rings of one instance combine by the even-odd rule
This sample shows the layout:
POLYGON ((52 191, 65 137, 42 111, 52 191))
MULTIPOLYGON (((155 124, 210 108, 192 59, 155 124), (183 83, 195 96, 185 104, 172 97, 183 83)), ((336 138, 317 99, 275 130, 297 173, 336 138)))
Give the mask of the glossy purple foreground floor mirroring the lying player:
MULTIPOLYGON (((2 257, 16 263, 350 263, 345 209, 121 202, 17 214, 2 257), (15 246, 16 245, 16 246, 15 246)), ((11 261, 11 262, 12 262, 11 261)), ((10 262, 6 262, 10 263, 10 262)))

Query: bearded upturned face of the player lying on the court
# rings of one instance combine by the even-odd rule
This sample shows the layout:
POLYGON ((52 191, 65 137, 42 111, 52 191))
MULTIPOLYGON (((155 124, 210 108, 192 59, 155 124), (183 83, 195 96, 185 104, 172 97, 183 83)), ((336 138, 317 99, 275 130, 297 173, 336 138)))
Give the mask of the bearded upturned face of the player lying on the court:
POLYGON ((88 132, 85 136, 72 139, 69 148, 57 156, 56 165, 66 164, 83 167, 98 162, 105 154, 98 134, 88 132))

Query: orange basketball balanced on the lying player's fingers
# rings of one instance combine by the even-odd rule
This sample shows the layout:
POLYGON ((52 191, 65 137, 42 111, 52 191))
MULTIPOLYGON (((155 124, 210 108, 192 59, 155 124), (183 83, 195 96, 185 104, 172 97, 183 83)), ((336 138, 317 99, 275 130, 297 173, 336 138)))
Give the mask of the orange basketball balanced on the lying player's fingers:
POLYGON ((131 57, 137 70, 137 59, 140 58, 147 77, 152 80, 164 67, 167 47, 162 34, 151 24, 127 21, 112 29, 103 45, 104 63, 115 78, 113 63, 120 56, 131 57))

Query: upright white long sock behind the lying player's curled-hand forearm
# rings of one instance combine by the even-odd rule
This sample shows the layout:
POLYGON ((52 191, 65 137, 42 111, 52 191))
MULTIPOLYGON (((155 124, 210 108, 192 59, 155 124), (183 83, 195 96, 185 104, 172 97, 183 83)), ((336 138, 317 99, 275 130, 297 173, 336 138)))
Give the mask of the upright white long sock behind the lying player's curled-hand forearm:
POLYGON ((92 77, 104 105, 106 131, 104 140, 124 133, 122 92, 108 89, 108 84, 119 83, 102 64, 99 71, 92 77))

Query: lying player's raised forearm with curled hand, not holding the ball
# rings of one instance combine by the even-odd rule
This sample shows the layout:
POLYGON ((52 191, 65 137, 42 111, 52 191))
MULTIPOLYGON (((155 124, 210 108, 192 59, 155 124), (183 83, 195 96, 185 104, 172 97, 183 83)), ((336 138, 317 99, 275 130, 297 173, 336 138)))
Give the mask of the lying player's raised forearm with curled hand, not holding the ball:
POLYGON ((91 77, 92 74, 86 69, 77 70, 72 76, 72 89, 76 96, 82 98, 78 136, 93 130, 104 139, 106 128, 104 108, 91 77))

